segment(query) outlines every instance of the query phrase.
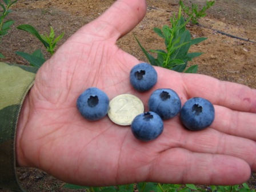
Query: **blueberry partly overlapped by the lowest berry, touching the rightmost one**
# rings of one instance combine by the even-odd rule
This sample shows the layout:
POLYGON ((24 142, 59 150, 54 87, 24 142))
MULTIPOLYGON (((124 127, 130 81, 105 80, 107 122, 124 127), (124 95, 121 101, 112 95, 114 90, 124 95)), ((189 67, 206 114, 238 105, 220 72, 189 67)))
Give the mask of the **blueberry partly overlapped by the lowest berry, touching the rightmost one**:
POLYGON ((171 89, 157 89, 149 98, 149 110, 157 113, 162 119, 170 119, 181 110, 181 99, 171 89))

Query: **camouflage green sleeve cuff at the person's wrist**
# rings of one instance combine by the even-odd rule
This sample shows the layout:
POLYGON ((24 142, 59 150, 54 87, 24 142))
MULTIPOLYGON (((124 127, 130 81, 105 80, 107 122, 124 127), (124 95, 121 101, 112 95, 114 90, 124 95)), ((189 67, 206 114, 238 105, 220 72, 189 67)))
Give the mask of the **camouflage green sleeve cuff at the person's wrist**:
POLYGON ((0 188, 25 191, 16 175, 15 136, 21 106, 37 70, 0 62, 0 188))

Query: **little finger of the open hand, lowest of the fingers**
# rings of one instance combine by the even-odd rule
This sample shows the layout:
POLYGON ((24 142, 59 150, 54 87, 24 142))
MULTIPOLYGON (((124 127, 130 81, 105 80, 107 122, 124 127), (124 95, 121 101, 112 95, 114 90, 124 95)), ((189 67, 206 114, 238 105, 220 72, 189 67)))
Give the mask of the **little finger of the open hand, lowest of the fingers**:
POLYGON ((250 165, 243 159, 179 148, 162 152, 150 170, 148 180, 152 182, 198 185, 238 185, 251 174, 250 165))

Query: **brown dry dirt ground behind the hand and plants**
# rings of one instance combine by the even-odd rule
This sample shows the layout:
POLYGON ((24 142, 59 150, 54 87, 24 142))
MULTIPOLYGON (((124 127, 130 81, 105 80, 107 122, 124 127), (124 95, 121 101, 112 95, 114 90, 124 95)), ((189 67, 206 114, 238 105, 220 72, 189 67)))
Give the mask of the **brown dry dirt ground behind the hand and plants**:
MULTIPOLYGON (((49 26, 54 28, 56 34, 65 31, 65 36, 59 43, 61 45, 74 31, 97 18, 113 2, 114 0, 19 0, 12 7, 13 13, 9 15, 9 19, 15 21, 14 26, 0 44, 0 53, 6 56, 2 61, 28 65, 24 59, 15 55, 15 51, 32 53, 36 49, 43 49, 35 37, 25 31, 17 30, 15 27, 18 25, 25 23, 33 25, 42 34, 49 33, 49 26)), ((178 10, 177 2, 178 0, 147 0, 146 17, 130 34, 119 39, 119 47, 146 61, 145 55, 134 39, 135 34, 146 50, 165 49, 162 39, 152 29, 170 25, 171 15, 178 10)), ((191 3, 205 4, 204 0, 184 2, 187 6, 191 3)), ((223 31, 256 42, 255 13, 255 0, 216 0, 215 5, 207 11, 207 17, 199 20, 200 26, 187 26, 193 37, 208 38, 191 47, 191 51, 205 54, 194 59, 190 65, 198 64, 198 73, 256 89, 256 43, 231 38, 217 32, 217 30, 223 31)), ((49 57, 50 55, 47 55, 46 58, 49 57)), ((22 168, 18 172, 22 185, 28 191, 71 191, 63 189, 63 182, 42 170, 22 168)), ((252 174, 247 183, 255 189, 256 175, 252 174)))

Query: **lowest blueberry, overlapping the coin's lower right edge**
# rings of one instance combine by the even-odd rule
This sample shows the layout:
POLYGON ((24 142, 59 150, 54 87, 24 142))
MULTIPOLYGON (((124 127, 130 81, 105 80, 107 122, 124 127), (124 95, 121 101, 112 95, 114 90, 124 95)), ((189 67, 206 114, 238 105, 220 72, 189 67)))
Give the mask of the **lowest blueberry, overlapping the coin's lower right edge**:
POLYGON ((151 141, 161 135, 163 121, 158 114, 149 111, 137 115, 131 123, 131 131, 141 141, 151 141))

